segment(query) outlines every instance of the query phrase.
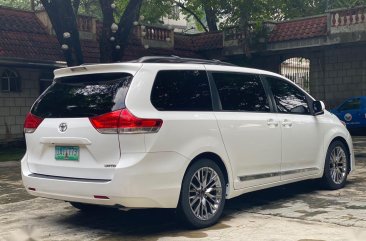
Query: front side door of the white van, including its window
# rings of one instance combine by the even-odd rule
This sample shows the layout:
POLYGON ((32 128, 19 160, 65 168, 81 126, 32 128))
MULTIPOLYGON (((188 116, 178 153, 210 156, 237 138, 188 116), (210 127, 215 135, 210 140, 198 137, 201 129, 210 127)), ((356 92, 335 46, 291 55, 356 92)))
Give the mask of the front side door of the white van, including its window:
POLYGON ((282 180, 317 174, 323 131, 311 114, 310 97, 291 82, 267 77, 282 129, 282 180))

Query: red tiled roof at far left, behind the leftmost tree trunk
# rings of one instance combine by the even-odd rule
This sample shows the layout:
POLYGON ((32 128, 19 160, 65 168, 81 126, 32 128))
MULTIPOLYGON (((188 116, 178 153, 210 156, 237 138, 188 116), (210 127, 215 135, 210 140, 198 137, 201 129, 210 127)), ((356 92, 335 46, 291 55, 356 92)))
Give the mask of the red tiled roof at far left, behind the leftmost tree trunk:
MULTIPOLYGON (((85 62, 99 62, 99 44, 81 40, 85 62)), ((49 35, 33 12, 0 7, 0 57, 64 61, 56 36, 49 35)))

